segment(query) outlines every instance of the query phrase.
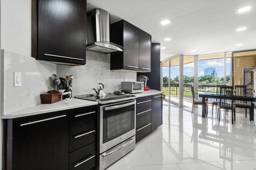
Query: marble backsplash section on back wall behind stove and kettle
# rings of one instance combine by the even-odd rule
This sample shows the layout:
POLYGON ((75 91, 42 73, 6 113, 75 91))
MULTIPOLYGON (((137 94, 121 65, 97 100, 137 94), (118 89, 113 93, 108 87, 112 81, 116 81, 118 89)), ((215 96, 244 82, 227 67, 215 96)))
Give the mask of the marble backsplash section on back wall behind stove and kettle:
POLYGON ((92 88, 103 83, 105 92, 113 93, 121 90, 124 78, 136 81, 136 72, 110 70, 110 55, 86 51, 86 64, 82 66, 57 65, 57 75, 65 77, 73 75, 72 95, 93 94, 92 88))

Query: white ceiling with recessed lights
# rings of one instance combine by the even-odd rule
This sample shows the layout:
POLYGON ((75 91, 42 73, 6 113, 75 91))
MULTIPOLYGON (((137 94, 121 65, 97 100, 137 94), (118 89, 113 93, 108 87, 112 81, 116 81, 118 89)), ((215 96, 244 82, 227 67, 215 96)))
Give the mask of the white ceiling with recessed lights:
POLYGON ((126 20, 161 43, 161 61, 173 55, 206 55, 256 49, 255 0, 87 0, 87 11, 102 8, 110 22, 126 20), (253 5, 238 14, 237 9, 253 5), (170 20, 162 25, 159 22, 170 20), (247 27, 244 31, 237 28, 247 27), (172 38, 164 41, 165 38, 172 38), (236 46, 236 44, 242 44, 236 46), (196 50, 195 52, 191 52, 196 50))

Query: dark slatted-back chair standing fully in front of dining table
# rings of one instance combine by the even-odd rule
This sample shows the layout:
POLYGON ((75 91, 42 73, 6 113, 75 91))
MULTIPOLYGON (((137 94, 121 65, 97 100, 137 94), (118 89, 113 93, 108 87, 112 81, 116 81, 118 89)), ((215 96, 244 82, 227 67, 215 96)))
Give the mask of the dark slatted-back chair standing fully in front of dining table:
MULTIPOLYGON (((233 104, 233 100, 226 98, 226 97, 233 96, 233 86, 220 86, 220 96, 222 96, 222 98, 217 104, 219 121, 220 121, 220 109, 231 110, 231 118, 232 118, 232 124, 233 124, 234 123, 233 113, 236 108, 236 105, 233 104)), ((228 114, 227 114, 227 117, 228 117, 228 114)))

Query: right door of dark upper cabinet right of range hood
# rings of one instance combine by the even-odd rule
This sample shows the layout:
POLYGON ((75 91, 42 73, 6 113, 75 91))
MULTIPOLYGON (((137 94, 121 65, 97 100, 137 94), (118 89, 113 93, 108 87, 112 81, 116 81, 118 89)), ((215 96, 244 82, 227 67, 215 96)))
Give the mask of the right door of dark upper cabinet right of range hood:
POLYGON ((150 72, 151 35, 139 29, 139 70, 150 72))

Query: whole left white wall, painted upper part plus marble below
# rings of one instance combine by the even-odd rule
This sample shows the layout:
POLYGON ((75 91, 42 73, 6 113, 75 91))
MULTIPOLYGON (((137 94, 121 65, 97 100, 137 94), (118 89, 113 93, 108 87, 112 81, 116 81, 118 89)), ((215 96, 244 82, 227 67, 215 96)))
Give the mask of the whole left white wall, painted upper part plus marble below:
POLYGON ((31 0, 2 0, 1 49, 4 49, 3 113, 40 104, 40 94, 51 89, 49 76, 56 64, 31 57, 31 0), (22 86, 14 87, 14 72, 22 72, 22 86))

